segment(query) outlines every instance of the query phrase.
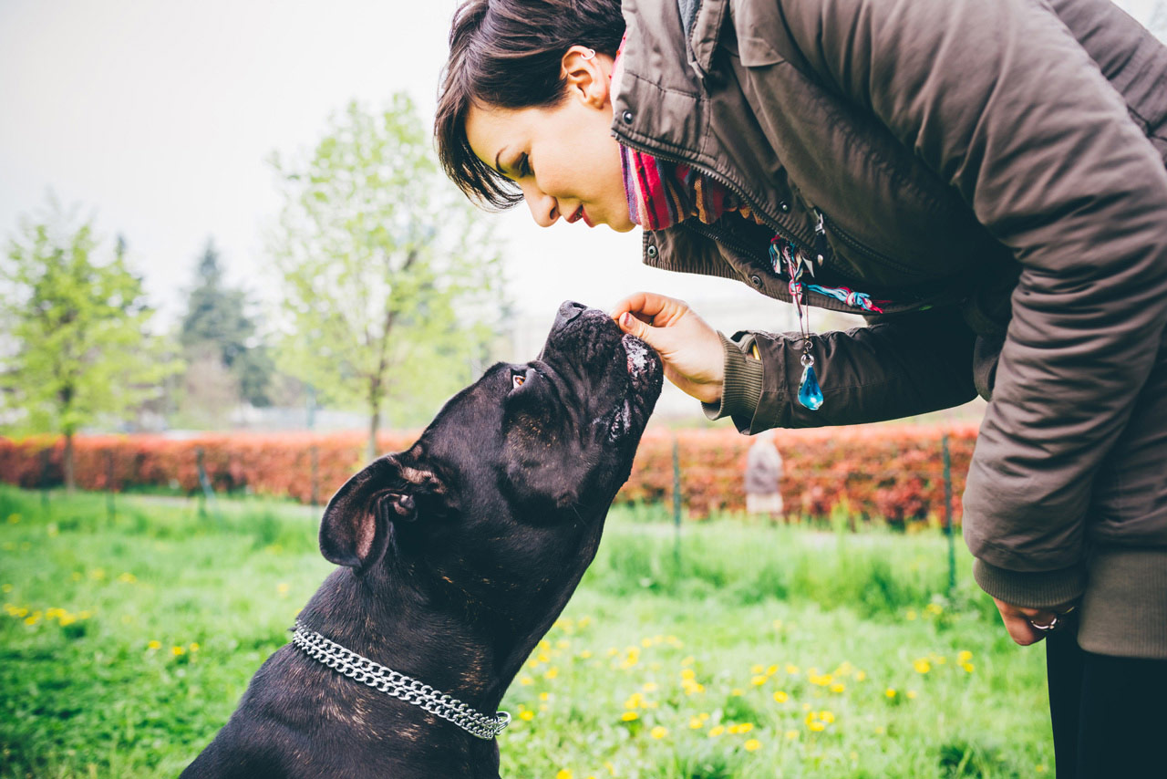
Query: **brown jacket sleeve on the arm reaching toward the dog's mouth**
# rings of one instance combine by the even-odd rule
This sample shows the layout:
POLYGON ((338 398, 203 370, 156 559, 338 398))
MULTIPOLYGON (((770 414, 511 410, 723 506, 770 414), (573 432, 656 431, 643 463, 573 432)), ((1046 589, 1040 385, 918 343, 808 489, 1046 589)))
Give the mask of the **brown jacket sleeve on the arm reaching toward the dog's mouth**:
POLYGON ((818 411, 797 401, 802 335, 743 331, 721 338, 725 389, 719 403, 704 409, 711 419, 732 417, 743 433, 900 419, 977 395, 970 369, 973 333, 956 309, 886 317, 867 327, 812 335, 824 394, 818 411))

